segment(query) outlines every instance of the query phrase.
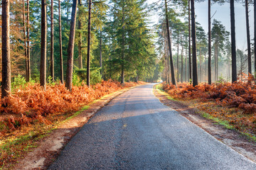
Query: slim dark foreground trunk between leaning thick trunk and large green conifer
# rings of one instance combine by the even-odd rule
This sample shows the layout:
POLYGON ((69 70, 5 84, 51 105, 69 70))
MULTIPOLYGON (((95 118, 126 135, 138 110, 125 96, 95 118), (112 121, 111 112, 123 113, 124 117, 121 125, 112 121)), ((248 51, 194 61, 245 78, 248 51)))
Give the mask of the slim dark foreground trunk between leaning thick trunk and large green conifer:
POLYGON ((90 30, 91 30, 91 10, 92 0, 89 0, 89 11, 88 11, 88 42, 87 42, 87 86, 90 87, 90 30))

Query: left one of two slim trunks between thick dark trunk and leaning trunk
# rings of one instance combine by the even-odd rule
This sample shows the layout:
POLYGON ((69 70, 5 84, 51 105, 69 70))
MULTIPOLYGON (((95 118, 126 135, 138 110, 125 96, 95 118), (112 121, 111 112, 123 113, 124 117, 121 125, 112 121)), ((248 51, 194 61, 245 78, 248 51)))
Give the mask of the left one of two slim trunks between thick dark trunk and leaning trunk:
POLYGON ((50 77, 54 81, 53 0, 50 1, 50 77))

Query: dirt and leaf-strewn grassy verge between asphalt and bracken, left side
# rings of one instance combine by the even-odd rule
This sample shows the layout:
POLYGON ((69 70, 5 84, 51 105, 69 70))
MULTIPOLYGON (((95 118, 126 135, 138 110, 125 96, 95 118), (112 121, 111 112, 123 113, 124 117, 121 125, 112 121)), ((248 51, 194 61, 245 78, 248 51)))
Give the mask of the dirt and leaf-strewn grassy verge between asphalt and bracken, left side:
MULTIPOLYGON (((0 149, 3 151, 0 153, 0 169, 46 169, 65 144, 97 111, 107 105, 112 98, 138 85, 129 84, 124 86, 124 89, 113 91, 87 103, 80 111, 58 115, 61 118, 54 122, 38 123, 38 132, 29 131, 21 134, 21 130, 14 130, 4 138, 1 137, 4 140, 0 140, 0 149)), ((31 125, 28 125, 28 128, 31 128, 31 125)))

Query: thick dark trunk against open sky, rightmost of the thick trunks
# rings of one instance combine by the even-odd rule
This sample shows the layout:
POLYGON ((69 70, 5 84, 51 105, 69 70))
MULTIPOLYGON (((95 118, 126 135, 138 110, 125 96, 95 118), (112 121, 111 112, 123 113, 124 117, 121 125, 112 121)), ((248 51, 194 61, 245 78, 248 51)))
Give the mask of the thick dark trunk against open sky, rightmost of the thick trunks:
POLYGON ((236 49, 235 49, 235 5, 230 0, 231 53, 232 53, 232 82, 237 81, 236 49))

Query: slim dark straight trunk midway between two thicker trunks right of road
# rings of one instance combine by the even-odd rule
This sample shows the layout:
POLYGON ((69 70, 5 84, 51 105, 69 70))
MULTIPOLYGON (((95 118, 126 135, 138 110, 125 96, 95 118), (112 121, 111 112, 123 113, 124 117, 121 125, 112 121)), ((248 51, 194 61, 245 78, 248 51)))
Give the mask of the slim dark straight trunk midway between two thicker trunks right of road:
POLYGON ((208 0, 208 84, 211 84, 211 29, 210 29, 210 0, 208 0))

